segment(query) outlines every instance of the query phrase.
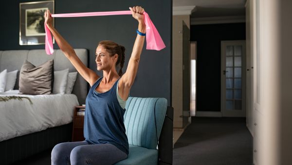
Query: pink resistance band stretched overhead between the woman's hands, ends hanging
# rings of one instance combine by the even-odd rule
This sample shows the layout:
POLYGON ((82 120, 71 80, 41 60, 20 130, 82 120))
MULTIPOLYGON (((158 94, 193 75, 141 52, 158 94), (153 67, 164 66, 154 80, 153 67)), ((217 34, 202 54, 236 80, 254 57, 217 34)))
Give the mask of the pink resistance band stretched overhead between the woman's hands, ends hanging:
MULTIPOLYGON (((132 15, 131 11, 116 12, 89 12, 89 13, 69 13, 69 14, 52 14, 52 17, 79 17, 79 16, 110 16, 110 15, 132 15)), ((144 20, 146 24, 146 49, 161 50, 165 48, 164 42, 152 23, 150 17, 144 12, 144 20)), ((53 54, 53 41, 49 28, 45 24, 46 31, 46 52, 53 54)))

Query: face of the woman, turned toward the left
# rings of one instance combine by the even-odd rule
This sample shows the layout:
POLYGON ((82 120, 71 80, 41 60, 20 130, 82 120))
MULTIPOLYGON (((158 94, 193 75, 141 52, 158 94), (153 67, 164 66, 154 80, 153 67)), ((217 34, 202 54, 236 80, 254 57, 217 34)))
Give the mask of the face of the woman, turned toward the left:
POLYGON ((95 52, 95 62, 97 70, 110 70, 111 67, 115 66, 116 54, 110 57, 110 53, 103 46, 99 45, 95 52))

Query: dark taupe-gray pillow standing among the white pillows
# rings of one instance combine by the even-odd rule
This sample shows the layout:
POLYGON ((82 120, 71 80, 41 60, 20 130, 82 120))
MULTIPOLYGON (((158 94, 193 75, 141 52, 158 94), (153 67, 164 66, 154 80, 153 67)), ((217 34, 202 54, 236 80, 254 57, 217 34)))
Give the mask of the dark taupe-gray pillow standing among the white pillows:
POLYGON ((27 95, 52 94, 53 66, 53 59, 37 67, 25 60, 19 73, 19 93, 27 95))

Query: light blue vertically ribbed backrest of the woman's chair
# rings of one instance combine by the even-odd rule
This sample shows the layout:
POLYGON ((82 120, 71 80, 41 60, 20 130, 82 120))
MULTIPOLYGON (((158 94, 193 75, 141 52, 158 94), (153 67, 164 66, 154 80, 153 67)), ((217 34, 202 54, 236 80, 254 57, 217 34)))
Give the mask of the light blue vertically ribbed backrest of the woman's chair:
POLYGON ((124 115, 129 145, 155 149, 166 109, 167 100, 164 98, 129 97, 124 115))

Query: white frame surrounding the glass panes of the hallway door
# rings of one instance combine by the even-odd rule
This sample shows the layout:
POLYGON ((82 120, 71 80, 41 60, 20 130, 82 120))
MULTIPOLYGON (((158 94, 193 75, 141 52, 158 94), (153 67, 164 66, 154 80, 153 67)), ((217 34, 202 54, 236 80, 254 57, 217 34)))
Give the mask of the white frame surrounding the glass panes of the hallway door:
POLYGON ((221 113, 223 117, 245 117, 246 116, 246 41, 245 40, 232 40, 221 41, 221 113), (242 95, 242 111, 226 110, 225 98, 226 98, 226 78, 223 76, 223 71, 226 68, 225 49, 226 45, 243 45, 242 59, 241 59, 241 95, 242 95), (223 58, 224 57, 224 58, 223 58))

